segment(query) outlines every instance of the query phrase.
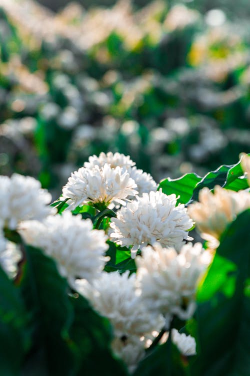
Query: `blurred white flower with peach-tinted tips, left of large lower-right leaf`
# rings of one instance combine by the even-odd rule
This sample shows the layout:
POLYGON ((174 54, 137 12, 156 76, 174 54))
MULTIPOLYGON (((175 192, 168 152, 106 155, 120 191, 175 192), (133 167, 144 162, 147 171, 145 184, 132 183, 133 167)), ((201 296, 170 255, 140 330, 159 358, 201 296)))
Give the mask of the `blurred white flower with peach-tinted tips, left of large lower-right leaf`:
POLYGON ((159 243, 145 247, 136 257, 137 283, 147 309, 162 313, 166 319, 176 314, 191 317, 195 309, 195 292, 201 273, 210 262, 200 243, 185 244, 179 254, 159 243))

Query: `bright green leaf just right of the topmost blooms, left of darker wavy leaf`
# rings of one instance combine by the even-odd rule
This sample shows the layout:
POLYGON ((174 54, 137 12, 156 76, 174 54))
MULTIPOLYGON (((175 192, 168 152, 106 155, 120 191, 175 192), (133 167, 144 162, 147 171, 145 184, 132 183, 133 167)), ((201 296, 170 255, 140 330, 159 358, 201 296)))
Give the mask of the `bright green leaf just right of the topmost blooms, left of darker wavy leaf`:
POLYGON ((201 177, 195 173, 186 173, 178 179, 167 177, 159 183, 158 190, 161 188, 166 195, 175 194, 179 196, 177 203, 186 204, 192 197, 193 190, 201 177))

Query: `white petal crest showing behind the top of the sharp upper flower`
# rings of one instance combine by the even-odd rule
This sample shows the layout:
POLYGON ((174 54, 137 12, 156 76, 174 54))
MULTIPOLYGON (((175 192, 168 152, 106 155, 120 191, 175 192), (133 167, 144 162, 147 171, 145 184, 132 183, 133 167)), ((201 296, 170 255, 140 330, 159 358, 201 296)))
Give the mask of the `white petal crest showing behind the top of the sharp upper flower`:
POLYGON ((84 162, 83 166, 86 168, 93 168, 95 166, 102 167, 105 163, 110 164, 111 168, 115 168, 117 166, 127 169, 131 166, 134 166, 135 163, 130 159, 129 155, 124 155, 120 153, 112 153, 109 151, 108 153, 101 152, 100 155, 92 155, 88 158, 88 162, 84 162))

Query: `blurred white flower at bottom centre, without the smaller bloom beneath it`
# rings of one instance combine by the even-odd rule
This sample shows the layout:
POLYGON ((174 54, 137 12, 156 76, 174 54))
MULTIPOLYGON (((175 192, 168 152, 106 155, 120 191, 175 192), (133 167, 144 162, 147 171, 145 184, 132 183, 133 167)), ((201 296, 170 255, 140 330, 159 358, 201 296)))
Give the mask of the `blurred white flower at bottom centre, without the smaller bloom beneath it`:
POLYGON ((130 277, 128 274, 129 271, 122 275, 102 272, 92 285, 82 280, 75 282, 79 293, 89 299, 97 312, 110 320, 115 337, 121 340, 150 335, 164 325, 162 316, 152 315, 145 309, 135 292, 135 274, 130 277))

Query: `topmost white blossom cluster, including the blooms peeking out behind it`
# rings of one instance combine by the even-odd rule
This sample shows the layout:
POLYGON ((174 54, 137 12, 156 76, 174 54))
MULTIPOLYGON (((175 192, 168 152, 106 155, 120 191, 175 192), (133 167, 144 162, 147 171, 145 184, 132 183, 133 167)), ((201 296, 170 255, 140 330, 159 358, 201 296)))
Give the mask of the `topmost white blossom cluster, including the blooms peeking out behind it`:
POLYGON ((68 199, 69 210, 88 203, 103 209, 112 202, 125 205, 136 194, 156 191, 152 176, 134 164, 129 156, 119 153, 90 156, 68 178, 61 200, 68 199))

